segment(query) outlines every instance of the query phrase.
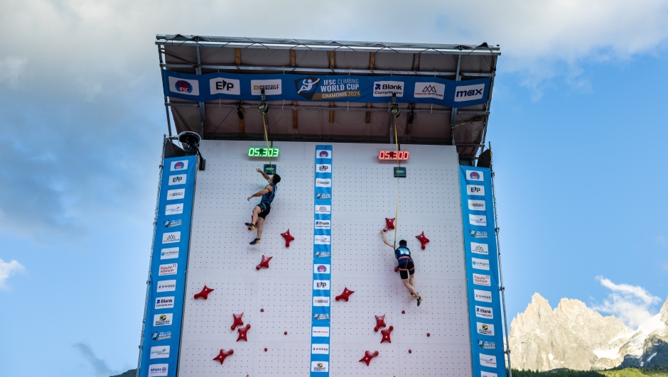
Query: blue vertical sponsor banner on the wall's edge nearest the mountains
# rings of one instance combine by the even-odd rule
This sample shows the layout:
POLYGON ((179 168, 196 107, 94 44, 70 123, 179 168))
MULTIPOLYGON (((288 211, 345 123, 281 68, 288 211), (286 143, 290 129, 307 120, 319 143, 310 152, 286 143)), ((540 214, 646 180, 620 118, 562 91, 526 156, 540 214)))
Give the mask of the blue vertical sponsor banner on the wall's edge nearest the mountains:
POLYGON ((492 177, 460 166, 468 312, 474 377, 505 376, 492 177))

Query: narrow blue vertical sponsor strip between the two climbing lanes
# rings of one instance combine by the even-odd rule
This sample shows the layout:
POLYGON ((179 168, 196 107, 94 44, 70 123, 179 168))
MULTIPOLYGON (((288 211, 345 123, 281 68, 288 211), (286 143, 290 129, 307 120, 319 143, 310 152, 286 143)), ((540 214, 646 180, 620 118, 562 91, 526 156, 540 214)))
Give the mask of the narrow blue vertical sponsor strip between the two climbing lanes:
POLYGON ((332 146, 316 146, 313 200, 311 377, 329 376, 332 275, 332 146))

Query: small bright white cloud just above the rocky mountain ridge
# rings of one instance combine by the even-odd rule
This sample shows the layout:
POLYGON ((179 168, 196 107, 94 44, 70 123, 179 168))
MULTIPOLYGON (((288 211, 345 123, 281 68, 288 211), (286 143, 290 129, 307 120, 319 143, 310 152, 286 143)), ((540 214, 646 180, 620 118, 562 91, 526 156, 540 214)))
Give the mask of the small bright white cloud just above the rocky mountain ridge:
POLYGON ((642 322, 650 319, 652 305, 661 301, 660 297, 653 296, 645 288, 637 285, 615 284, 603 276, 596 276, 596 280, 612 293, 608 294, 603 305, 594 306, 593 310, 615 315, 629 327, 637 328, 642 322))

